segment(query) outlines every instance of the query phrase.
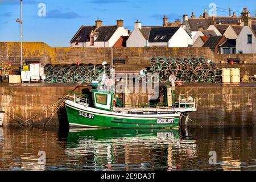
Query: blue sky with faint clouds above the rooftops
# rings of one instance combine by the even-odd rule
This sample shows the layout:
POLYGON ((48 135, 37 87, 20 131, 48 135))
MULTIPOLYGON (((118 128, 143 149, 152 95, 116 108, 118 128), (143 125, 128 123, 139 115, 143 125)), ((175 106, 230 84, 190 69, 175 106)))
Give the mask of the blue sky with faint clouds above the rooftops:
MULTIPOLYGON (((23 0, 24 42, 45 42, 52 47, 69 47, 73 35, 82 25, 94 25, 97 18, 104 25, 124 20, 124 26, 133 30, 139 19, 143 26, 162 26, 163 16, 169 20, 182 19, 182 15, 196 16, 210 10, 210 3, 217 7, 242 11, 248 7, 255 16, 256 0, 23 0), (39 17, 39 3, 46 4, 46 17, 39 17)), ((217 9, 217 15, 228 15, 228 11, 217 9)), ((237 13, 239 14, 239 13, 237 13)), ((19 42, 20 28, 16 18, 20 16, 19 0, 0 0, 0 42, 19 42)))

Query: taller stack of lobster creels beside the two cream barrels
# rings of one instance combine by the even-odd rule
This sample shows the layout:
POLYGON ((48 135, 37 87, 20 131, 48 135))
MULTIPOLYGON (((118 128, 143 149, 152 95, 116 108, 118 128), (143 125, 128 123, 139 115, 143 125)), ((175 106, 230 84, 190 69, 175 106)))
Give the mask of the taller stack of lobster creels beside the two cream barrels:
POLYGON ((184 59, 152 57, 146 75, 148 81, 158 78, 159 82, 170 82, 170 76, 184 82, 221 82, 221 70, 215 63, 207 63, 204 57, 184 59))

